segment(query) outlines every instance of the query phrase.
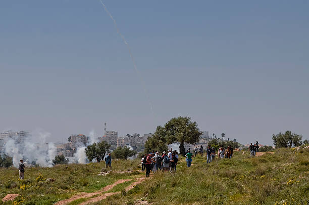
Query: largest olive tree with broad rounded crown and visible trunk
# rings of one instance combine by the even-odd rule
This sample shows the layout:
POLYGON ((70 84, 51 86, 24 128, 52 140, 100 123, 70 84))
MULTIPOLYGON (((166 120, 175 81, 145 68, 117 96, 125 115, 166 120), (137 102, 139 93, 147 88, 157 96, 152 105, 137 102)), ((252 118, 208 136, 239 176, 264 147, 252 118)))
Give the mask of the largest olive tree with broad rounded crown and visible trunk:
POLYGON ((181 116, 168 121, 164 126, 164 131, 167 144, 180 142, 179 151, 183 156, 186 154, 184 143, 195 144, 202 135, 195 121, 191 121, 190 117, 181 116))

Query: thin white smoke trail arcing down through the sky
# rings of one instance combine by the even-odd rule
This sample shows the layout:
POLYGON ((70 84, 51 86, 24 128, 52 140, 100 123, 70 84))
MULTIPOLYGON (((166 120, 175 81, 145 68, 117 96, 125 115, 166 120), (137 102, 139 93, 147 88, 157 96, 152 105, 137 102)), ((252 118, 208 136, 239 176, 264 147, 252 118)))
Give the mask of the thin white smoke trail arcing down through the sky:
POLYGON ((105 6, 105 4, 103 4, 103 2, 100 0, 100 3, 101 5, 104 7, 104 10, 106 11, 106 13, 111 17, 111 19, 113 20, 114 22, 114 25, 117 29, 117 33, 120 35, 120 37, 122 38, 123 42, 127 45, 128 47, 128 50, 129 50, 129 53, 130 53, 130 56, 132 58, 132 61, 133 61, 133 64, 134 64, 134 69, 135 71, 137 72, 137 74, 139 75, 140 77, 140 80, 142 82, 142 86, 143 86, 143 89, 144 89, 144 92, 146 94, 146 97, 148 99, 148 102, 149 102, 149 106, 150 106, 150 110, 152 112, 153 115, 155 115, 155 112, 153 112, 153 109, 152 109, 152 104, 151 104, 151 101, 150 101, 150 97, 148 95, 148 92, 147 92, 147 89, 146 89, 146 83, 144 81, 144 79, 142 78, 142 75, 141 73, 139 72, 139 70, 137 69, 137 66, 136 66, 136 63, 135 63, 135 59, 134 59, 134 56, 132 54, 132 51, 131 51, 131 48, 130 48, 130 45, 128 44, 128 42, 126 41, 125 37, 122 35, 122 33, 120 32, 118 26, 117 26, 117 23, 116 23, 116 20, 114 19, 114 17, 112 16, 112 14, 109 12, 109 10, 107 9, 107 7, 105 6))

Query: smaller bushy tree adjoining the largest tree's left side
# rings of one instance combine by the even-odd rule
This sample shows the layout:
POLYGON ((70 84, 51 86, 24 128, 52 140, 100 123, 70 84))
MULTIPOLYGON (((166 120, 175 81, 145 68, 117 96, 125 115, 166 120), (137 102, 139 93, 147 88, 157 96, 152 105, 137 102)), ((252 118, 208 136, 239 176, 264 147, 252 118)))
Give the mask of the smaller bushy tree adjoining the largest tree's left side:
POLYGON ((162 126, 158 126, 157 130, 154 134, 151 134, 152 137, 149 137, 145 142, 145 150, 144 153, 148 154, 152 150, 157 150, 160 153, 166 151, 168 146, 165 140, 165 131, 162 126))

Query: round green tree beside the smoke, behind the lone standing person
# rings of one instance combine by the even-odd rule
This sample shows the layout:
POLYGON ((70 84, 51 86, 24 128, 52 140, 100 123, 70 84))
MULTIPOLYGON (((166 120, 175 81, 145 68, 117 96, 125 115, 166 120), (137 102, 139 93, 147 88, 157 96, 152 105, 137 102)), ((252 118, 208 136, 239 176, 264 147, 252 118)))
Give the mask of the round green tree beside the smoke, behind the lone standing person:
POLYGON ((89 161, 96 159, 97 162, 100 162, 104 159, 105 154, 109 151, 110 147, 111 145, 106 141, 93 143, 85 148, 86 156, 89 161))

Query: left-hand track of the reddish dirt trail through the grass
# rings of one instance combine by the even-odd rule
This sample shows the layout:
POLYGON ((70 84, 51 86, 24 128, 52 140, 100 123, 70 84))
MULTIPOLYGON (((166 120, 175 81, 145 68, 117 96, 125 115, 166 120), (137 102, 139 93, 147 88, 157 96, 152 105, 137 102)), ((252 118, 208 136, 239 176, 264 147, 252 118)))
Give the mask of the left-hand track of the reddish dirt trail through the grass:
POLYGON ((120 179, 120 180, 116 181, 114 184, 110 184, 110 185, 102 188, 99 191, 96 191, 96 192, 93 192, 93 193, 81 192, 81 194, 72 196, 71 198, 58 201, 57 203, 55 203, 55 205, 64 205, 64 204, 70 203, 70 202, 77 200, 77 199, 80 199, 80 198, 88 198, 88 197, 91 197, 91 196, 94 196, 94 195, 97 195, 97 194, 101 194, 102 192, 106 192, 108 190, 111 190, 117 184, 122 184, 124 182, 128 182, 128 181, 131 181, 131 180, 132 179, 120 179))

